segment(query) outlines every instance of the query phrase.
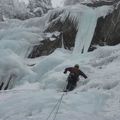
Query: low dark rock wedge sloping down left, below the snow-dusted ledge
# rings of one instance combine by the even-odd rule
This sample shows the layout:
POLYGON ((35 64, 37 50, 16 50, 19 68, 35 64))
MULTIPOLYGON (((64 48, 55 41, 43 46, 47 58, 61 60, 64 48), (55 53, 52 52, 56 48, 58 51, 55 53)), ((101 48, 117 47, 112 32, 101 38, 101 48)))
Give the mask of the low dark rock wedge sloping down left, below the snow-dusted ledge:
POLYGON ((40 44, 34 46, 28 58, 36 58, 44 55, 49 55, 54 52, 55 49, 61 47, 62 34, 59 34, 57 36, 53 34, 51 38, 46 38, 45 40, 41 41, 40 44))

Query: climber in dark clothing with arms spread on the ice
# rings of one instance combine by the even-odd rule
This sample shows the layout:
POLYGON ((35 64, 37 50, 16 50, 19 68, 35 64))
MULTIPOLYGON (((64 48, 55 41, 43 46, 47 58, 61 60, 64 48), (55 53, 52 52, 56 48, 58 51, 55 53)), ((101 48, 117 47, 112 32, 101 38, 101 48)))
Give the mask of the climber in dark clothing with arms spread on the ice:
POLYGON ((64 90, 64 92, 67 91, 72 91, 77 84, 77 81, 79 81, 79 76, 83 76, 85 79, 87 78, 87 76, 79 69, 79 65, 76 64, 74 67, 68 67, 64 70, 64 74, 67 73, 67 71, 69 71, 69 76, 67 78, 68 84, 66 86, 66 89, 64 90))

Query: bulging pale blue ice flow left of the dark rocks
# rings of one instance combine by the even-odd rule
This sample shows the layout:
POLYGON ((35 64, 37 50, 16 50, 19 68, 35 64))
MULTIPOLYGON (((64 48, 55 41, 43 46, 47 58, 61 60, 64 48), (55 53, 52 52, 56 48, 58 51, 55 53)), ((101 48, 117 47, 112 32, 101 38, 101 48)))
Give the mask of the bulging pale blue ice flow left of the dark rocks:
POLYGON ((24 77, 36 74, 28 68, 25 58, 33 46, 43 39, 41 31, 45 26, 45 18, 46 16, 23 22, 8 20, 0 23, 0 85, 5 83, 4 88, 10 79, 14 81, 12 88, 21 84, 24 77))

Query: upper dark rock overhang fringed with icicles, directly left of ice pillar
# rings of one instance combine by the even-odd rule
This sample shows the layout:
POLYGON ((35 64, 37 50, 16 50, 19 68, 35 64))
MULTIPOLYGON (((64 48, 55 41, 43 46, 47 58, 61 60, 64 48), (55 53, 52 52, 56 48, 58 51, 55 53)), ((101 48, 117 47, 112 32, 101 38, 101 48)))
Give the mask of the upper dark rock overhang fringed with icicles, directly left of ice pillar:
POLYGON ((74 47, 77 29, 76 29, 76 24, 71 19, 69 19, 69 15, 68 17, 66 17, 64 22, 61 22, 60 19, 57 19, 57 21, 54 21, 63 12, 64 11, 58 14, 55 14, 51 17, 51 19, 49 20, 51 24, 48 26, 45 32, 54 32, 54 31, 61 32, 63 34, 64 48, 70 50, 72 47, 74 47))

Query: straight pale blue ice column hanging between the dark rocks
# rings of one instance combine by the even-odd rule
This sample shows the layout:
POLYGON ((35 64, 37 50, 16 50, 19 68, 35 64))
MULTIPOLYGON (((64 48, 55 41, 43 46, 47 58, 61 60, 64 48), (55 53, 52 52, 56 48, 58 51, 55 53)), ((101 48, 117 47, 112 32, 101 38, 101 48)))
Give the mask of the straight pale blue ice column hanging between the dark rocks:
POLYGON ((78 33, 73 53, 86 53, 90 46, 97 23, 97 16, 92 8, 87 8, 79 15, 78 33))

